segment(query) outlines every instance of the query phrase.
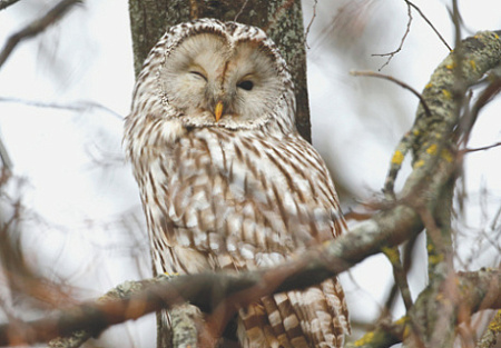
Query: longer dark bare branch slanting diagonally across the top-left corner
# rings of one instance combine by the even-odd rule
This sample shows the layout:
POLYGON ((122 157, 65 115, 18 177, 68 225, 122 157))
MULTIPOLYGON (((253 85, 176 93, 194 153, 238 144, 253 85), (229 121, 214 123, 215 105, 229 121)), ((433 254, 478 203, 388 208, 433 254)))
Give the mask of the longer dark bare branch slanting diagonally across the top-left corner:
POLYGON ((3 63, 9 58, 10 53, 12 53, 13 49, 18 46, 19 42, 39 34, 47 27, 60 20, 73 4, 79 2, 81 2, 81 0, 62 0, 58 2, 52 9, 50 9, 49 12, 46 13, 46 16, 37 19, 20 31, 10 36, 7 40, 7 43, 3 46, 2 51, 0 52, 0 67, 3 66, 3 63))

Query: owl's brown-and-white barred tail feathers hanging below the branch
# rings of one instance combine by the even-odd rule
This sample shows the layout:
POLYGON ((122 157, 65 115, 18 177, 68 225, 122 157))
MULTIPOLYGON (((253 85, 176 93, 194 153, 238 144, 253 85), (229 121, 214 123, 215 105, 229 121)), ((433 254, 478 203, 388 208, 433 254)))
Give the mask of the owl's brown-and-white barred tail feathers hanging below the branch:
POLYGON ((239 311, 245 348, 343 347, 350 334, 344 292, 337 279, 265 297, 239 311))

